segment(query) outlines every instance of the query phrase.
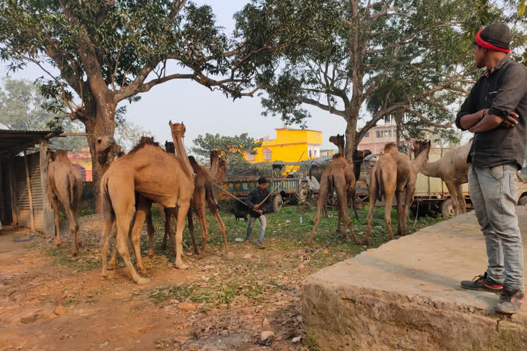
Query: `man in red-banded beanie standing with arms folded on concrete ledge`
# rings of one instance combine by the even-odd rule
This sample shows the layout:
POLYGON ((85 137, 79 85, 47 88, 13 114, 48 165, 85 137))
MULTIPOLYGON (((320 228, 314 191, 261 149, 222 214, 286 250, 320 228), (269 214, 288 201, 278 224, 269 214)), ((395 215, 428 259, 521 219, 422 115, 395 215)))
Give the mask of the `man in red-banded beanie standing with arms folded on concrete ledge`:
POLYGON ((527 69, 512 60, 510 29, 493 23, 474 41, 478 68, 487 67, 461 106, 456 125, 474 133, 467 162, 469 191, 485 236, 489 266, 461 287, 501 293, 495 311, 516 313, 525 297, 524 251, 515 213, 517 175, 526 148, 527 69))

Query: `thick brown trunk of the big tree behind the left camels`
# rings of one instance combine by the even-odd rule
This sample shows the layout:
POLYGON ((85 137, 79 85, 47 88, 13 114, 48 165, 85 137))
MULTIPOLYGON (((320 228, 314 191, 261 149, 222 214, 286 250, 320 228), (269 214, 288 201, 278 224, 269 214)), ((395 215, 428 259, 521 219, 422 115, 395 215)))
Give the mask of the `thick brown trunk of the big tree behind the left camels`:
POLYGON ((97 136, 113 136, 115 132, 115 108, 117 104, 110 102, 106 104, 97 104, 97 112, 95 118, 89 118, 85 121, 86 134, 91 134, 87 137, 88 145, 91 154, 92 180, 93 180, 93 201, 95 202, 95 213, 102 212, 101 206, 101 189, 100 183, 103 170, 108 168, 108 165, 113 160, 113 154, 108 155, 108 161, 102 165, 97 160, 97 152, 95 150, 95 138, 97 136), (99 108, 99 106, 101 106, 99 108))

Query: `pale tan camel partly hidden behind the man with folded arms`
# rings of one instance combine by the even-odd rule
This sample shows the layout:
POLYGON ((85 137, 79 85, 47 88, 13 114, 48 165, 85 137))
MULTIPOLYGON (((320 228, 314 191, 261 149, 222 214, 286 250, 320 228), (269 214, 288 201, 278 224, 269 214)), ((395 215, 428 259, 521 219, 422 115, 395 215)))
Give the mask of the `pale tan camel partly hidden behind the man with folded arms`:
POLYGON ((452 208, 454 208, 454 216, 457 216, 459 212, 467 212, 461 185, 469 181, 467 156, 471 145, 472 139, 467 145, 445 152, 439 160, 425 162, 423 167, 421 167, 421 173, 424 175, 441 178, 447 184, 447 189, 452 199, 452 208))

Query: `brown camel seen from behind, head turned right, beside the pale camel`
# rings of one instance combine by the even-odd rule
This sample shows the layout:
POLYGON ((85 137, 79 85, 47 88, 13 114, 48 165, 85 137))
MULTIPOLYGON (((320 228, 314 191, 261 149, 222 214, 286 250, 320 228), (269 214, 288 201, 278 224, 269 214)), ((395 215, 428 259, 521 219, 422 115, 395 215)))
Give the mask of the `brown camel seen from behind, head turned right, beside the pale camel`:
POLYGON ((397 233, 406 235, 406 220, 408 210, 412 202, 417 173, 430 152, 430 141, 414 141, 416 158, 409 160, 406 154, 397 150, 395 143, 384 147, 384 156, 379 158, 370 174, 370 186, 368 188, 369 210, 366 217, 366 234, 364 244, 370 243, 371 221, 373 220, 373 208, 377 199, 384 197, 384 221, 388 227, 390 238, 395 239, 392 231, 391 210, 393 197, 397 200, 397 233))

